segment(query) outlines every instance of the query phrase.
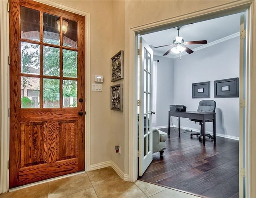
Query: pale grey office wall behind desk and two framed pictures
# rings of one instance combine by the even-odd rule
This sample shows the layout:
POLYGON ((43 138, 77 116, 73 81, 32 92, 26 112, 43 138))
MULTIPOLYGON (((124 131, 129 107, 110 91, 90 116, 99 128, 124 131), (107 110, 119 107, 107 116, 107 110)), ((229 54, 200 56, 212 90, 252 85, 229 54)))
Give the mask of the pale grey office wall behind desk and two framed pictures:
MULTIPOLYGON (((214 80, 239 77, 239 40, 238 36, 174 60, 174 104, 196 111, 199 101, 207 98, 192 99, 192 83, 210 81, 209 99, 216 101, 216 134, 231 138, 239 137, 239 98, 214 98, 214 80)), ((181 126, 200 130, 198 123, 185 118, 181 126)), ((212 132, 212 123, 206 124, 206 131, 212 132)))

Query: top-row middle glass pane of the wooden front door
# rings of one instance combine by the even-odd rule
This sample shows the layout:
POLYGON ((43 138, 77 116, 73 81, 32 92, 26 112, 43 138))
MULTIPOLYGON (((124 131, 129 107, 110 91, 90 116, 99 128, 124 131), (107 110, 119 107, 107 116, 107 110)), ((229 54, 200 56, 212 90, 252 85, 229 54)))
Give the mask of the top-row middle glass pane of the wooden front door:
POLYGON ((60 18, 51 14, 43 14, 44 18, 44 43, 60 45, 60 32, 57 20, 60 18))

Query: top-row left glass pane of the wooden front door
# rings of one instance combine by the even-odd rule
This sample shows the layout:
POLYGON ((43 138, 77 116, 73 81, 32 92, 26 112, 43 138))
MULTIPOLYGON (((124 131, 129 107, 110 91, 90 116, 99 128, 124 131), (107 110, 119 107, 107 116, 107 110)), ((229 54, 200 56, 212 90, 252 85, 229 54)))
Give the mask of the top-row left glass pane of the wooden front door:
POLYGON ((39 11, 20 6, 20 36, 40 41, 39 11))

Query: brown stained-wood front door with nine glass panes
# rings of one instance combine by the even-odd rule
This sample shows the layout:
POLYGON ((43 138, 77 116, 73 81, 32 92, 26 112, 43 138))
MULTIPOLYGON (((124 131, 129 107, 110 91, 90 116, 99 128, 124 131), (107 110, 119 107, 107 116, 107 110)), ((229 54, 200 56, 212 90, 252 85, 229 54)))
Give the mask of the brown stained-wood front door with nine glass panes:
POLYGON ((85 169, 85 17, 9 8, 12 188, 85 169))

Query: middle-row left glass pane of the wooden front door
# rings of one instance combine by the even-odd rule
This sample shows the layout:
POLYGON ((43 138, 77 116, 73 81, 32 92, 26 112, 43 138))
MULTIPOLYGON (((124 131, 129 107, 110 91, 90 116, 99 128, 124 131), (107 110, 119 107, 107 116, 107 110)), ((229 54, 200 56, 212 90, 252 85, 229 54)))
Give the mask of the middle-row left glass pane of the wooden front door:
POLYGON ((21 73, 40 74, 40 45, 21 42, 21 73))

